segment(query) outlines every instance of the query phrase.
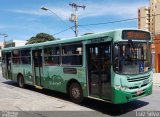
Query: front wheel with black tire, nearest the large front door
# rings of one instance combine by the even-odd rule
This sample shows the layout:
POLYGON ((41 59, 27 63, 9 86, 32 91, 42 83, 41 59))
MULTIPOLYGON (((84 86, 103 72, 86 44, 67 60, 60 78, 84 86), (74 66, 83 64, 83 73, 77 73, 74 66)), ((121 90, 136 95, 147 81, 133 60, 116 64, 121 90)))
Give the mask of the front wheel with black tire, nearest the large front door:
POLYGON ((69 96, 74 103, 83 101, 83 91, 78 83, 74 82, 69 86, 69 96))

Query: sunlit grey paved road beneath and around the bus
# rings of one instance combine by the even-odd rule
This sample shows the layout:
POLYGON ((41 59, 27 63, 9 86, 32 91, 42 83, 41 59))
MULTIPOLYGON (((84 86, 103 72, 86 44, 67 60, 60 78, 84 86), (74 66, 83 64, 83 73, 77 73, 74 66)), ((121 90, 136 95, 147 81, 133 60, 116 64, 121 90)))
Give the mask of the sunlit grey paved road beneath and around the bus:
POLYGON ((128 116, 133 111, 133 116, 136 116, 135 111, 160 111, 159 104, 160 87, 158 85, 154 86, 152 95, 129 102, 123 106, 115 106, 92 99, 86 99, 84 103, 78 105, 70 102, 65 94, 49 90, 38 90, 31 86, 21 89, 16 83, 6 81, 0 77, 0 110, 24 111, 23 114, 29 116, 41 117, 55 114, 65 117, 128 116), (120 107, 123 108, 121 111, 120 107))

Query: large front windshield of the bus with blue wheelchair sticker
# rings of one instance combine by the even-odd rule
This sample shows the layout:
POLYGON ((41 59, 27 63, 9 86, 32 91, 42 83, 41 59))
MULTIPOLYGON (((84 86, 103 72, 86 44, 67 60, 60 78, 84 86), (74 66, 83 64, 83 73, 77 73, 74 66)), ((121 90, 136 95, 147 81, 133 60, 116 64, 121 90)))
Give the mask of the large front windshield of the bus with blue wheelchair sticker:
POLYGON ((139 74, 151 69, 150 44, 120 42, 114 44, 114 70, 121 74, 139 74))

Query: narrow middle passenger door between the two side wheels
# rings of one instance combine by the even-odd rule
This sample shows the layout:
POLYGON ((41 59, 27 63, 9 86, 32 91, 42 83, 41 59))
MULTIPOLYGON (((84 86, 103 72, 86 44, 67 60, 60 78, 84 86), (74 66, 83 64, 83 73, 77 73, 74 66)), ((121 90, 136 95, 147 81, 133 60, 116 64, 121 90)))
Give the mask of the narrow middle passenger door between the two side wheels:
POLYGON ((32 50, 34 85, 41 86, 42 80, 42 49, 32 50))

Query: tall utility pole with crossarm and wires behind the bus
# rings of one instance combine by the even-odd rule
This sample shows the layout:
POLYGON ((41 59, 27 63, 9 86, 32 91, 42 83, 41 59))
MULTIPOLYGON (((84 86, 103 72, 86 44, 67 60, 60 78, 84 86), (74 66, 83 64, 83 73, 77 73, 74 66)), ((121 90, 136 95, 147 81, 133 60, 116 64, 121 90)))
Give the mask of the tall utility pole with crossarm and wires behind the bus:
POLYGON ((74 22, 75 36, 77 37, 78 36, 78 15, 77 15, 77 11, 78 11, 78 8, 83 8, 83 10, 84 10, 86 8, 86 6, 77 5, 76 3, 72 3, 72 4, 69 4, 69 5, 73 9, 73 14, 71 14, 71 17, 69 18, 69 20, 71 22, 74 22))

